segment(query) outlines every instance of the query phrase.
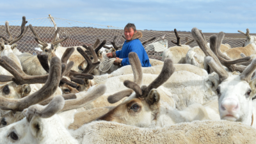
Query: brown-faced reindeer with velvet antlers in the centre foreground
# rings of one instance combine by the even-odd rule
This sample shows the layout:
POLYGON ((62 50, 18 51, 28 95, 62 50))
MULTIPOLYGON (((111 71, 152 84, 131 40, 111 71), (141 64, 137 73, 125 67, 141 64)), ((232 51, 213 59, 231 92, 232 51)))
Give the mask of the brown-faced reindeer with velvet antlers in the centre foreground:
MULTIPOLYGON (((134 77, 134 82, 129 80, 124 81, 124 85, 130 89, 110 95, 108 101, 114 103, 124 97, 128 98, 106 115, 100 117, 99 120, 119 122, 138 127, 164 127, 179 122, 210 119, 206 109, 201 104, 192 104, 183 111, 177 111, 175 108, 161 101, 161 95, 157 88, 166 82, 172 76, 173 72, 175 72, 173 62, 170 58, 164 60, 161 73, 152 83, 148 86, 143 85, 140 87, 142 82, 141 65, 140 63, 134 63, 139 60, 132 60, 132 54, 135 53, 130 52, 129 60, 132 65, 136 65, 132 69, 137 74, 134 77)), ((138 56, 135 58, 138 59, 138 56)))

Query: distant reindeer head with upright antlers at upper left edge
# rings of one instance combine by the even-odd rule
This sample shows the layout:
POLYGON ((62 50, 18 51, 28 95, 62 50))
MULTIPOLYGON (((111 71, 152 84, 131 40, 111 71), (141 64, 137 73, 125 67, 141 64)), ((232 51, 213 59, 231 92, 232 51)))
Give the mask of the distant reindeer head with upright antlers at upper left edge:
POLYGON ((13 38, 13 36, 10 33, 10 29, 9 29, 9 22, 6 21, 5 22, 5 29, 6 29, 6 33, 8 34, 9 38, 6 38, 4 36, 0 36, 0 51, 3 52, 5 50, 5 52, 12 52, 12 50, 17 47, 17 44, 15 44, 15 42, 18 42, 28 31, 28 26, 25 28, 25 25, 28 21, 26 21, 26 17, 22 17, 22 24, 21 24, 21 31, 20 31, 20 35, 19 36, 15 36, 13 38))

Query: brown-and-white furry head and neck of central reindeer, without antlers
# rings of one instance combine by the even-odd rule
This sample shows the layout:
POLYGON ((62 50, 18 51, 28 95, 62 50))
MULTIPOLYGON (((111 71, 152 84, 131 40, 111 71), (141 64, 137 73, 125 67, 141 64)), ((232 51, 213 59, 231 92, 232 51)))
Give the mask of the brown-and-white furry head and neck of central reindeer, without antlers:
MULTIPOLYGON (((210 113, 208 115, 202 104, 191 104, 188 108, 178 111, 161 100, 161 95, 156 89, 152 89, 145 99, 136 95, 135 93, 132 94, 99 120, 119 122, 137 127, 166 127, 180 122, 210 119, 210 113), (151 95, 154 97, 151 97, 151 95), (149 101, 149 99, 156 99, 156 97, 158 100, 149 101), (139 107, 136 111, 132 109, 134 104, 139 107)), ((216 107, 218 107, 218 104, 216 104, 216 107)), ((218 115, 218 110, 214 113, 218 115)))

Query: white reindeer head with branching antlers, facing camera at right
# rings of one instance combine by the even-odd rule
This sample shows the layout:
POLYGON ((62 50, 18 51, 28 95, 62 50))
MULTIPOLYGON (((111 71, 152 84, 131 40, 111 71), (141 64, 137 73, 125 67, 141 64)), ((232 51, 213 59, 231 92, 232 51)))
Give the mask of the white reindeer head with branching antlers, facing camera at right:
POLYGON ((235 65, 236 63, 241 63, 250 60, 250 58, 241 58, 238 60, 225 60, 220 56, 221 42, 224 37, 224 33, 220 32, 218 36, 213 35, 210 38, 210 47, 208 47, 207 42, 200 35, 200 31, 197 28, 192 29, 192 36, 195 39, 199 47, 204 51, 206 63, 218 74, 220 77, 220 84, 216 89, 218 93, 218 103, 220 117, 222 120, 230 120, 234 122, 252 122, 252 97, 255 93, 251 93, 255 90, 255 85, 251 84, 250 79, 253 72, 256 69, 256 60, 244 68, 235 65), (228 73, 222 65, 225 65, 231 71, 238 70, 242 72, 240 75, 228 73))

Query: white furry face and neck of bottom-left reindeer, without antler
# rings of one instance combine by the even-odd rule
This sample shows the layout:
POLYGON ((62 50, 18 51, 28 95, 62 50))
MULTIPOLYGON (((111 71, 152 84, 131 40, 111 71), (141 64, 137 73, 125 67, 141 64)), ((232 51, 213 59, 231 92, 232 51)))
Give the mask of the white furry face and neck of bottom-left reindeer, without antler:
POLYGON ((27 118, 23 118, 0 129, 0 143, 78 144, 66 128, 68 124, 65 122, 70 123, 67 121, 70 117, 72 118, 71 115, 53 115, 50 118, 33 116, 29 122, 27 118), (15 132, 19 139, 13 140, 11 132, 15 132))

